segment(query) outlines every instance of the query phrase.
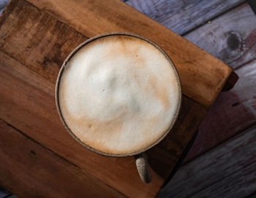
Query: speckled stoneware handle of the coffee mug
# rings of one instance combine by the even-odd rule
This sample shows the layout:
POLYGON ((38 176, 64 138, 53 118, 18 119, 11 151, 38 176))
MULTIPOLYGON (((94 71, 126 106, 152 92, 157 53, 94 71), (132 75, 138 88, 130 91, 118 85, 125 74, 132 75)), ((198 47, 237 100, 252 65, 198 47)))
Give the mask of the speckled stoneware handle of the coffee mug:
POLYGON ((145 183, 152 181, 151 172, 149 170, 148 159, 145 153, 135 155, 135 163, 138 169, 140 178, 145 183))

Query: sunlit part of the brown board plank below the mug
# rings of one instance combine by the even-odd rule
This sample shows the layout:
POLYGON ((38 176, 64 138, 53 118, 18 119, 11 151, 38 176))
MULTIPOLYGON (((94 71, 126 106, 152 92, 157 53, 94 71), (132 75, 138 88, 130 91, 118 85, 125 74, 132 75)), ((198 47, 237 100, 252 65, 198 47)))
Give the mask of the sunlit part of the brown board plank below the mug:
POLYGON ((164 182, 140 181, 133 157, 104 157, 74 140, 59 119, 54 84, 0 53, 0 118, 129 197, 154 197, 164 182), (130 189, 133 189, 130 191, 130 189))

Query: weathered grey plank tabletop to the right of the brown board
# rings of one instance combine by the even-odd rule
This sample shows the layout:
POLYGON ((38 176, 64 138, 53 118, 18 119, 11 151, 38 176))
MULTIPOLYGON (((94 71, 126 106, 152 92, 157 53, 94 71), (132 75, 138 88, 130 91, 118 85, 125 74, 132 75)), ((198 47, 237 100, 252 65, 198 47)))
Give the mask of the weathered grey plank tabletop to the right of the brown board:
POLYGON ((159 197, 255 197, 256 15, 252 7, 243 0, 126 2, 223 60, 239 76, 235 87, 220 93, 208 111, 182 167, 159 197))

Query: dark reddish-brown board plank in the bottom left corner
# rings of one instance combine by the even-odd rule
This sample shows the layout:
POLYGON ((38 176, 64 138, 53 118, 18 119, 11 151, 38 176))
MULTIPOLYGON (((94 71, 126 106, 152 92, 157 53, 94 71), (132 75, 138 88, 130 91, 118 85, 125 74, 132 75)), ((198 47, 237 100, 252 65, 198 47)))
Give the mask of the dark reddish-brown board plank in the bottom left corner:
POLYGON ((0 158, 0 185, 19 197, 124 197, 1 119, 0 158))

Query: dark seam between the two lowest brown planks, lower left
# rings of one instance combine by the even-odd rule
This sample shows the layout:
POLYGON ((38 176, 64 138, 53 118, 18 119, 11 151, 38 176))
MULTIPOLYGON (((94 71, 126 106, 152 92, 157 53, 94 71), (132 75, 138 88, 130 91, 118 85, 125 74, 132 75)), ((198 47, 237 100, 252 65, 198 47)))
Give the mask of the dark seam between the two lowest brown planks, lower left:
MULTIPOLYGON (((29 135, 26 135, 26 133, 22 132, 21 130, 19 130, 18 128, 12 126, 12 124, 6 122, 4 119, 0 120, 2 122, 4 122, 5 124, 7 124, 9 127, 12 127, 14 130, 17 130, 18 132, 20 132, 21 135, 25 136, 26 138, 28 138, 29 140, 33 141, 34 143, 37 143, 39 146, 42 146, 42 148, 45 148, 46 150, 52 152, 53 154, 56 154, 57 157, 60 157, 61 159, 63 159, 65 162, 69 163, 70 165, 73 165, 77 168, 79 168, 80 170, 82 170, 83 172, 87 173, 88 175, 91 175, 93 178, 96 178, 97 180, 101 181, 102 183, 104 183, 106 186, 109 186, 111 189, 113 189, 114 191, 117 191, 116 189, 114 189, 112 186, 108 185, 108 183, 105 183, 104 181, 100 180, 99 178, 97 178, 95 175, 92 175, 91 173, 87 172, 86 170, 83 170, 81 167, 79 167, 78 165, 75 165, 72 162, 69 162, 69 160, 65 159, 64 157, 61 157, 61 155, 59 155, 58 153, 56 153, 55 151, 52 151, 50 148, 42 145, 41 143, 39 143, 37 140, 34 140, 33 138, 31 138, 29 135)), ((127 195, 121 193, 120 191, 117 191, 118 193, 122 194, 124 197, 127 197, 127 195)))

